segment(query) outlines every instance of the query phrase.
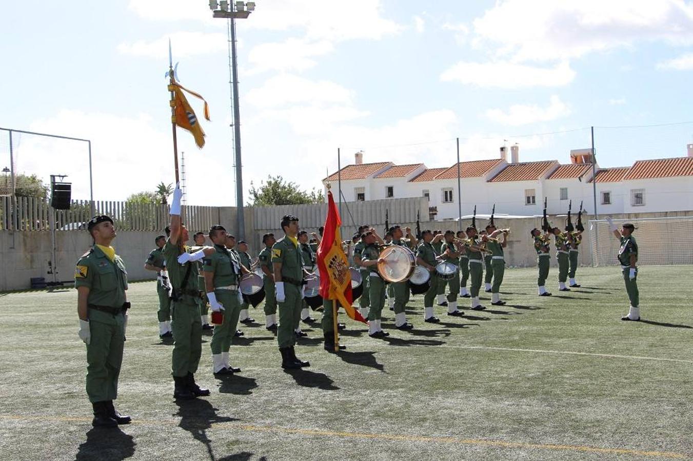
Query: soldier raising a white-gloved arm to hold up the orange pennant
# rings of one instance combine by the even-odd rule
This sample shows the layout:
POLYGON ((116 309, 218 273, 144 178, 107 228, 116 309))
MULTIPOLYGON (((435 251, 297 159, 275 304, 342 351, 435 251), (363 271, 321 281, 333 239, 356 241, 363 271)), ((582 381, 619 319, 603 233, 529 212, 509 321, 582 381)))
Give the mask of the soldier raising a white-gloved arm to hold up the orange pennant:
POLYGON ((195 383, 195 372, 202 354, 202 322, 200 320, 200 278, 196 262, 205 255, 214 253, 214 248, 204 247, 188 253, 188 229, 180 219, 182 191, 176 184, 173 190, 170 215, 170 236, 164 245, 166 268, 171 283, 171 327, 173 329, 173 353, 171 374, 173 375, 173 397, 192 399, 209 395, 195 383))

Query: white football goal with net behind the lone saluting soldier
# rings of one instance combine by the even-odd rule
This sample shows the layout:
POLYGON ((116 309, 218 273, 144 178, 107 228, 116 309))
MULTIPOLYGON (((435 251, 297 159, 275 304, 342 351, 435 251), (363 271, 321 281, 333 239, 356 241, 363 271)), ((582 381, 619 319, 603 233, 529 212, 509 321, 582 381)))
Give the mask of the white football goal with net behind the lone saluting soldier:
MULTIPOLYGON (((638 242, 638 264, 693 264, 693 216, 660 218, 615 218, 621 226, 631 222, 638 242)), ((606 219, 589 222, 590 245, 594 266, 613 266, 617 260, 619 241, 611 233, 606 219)))

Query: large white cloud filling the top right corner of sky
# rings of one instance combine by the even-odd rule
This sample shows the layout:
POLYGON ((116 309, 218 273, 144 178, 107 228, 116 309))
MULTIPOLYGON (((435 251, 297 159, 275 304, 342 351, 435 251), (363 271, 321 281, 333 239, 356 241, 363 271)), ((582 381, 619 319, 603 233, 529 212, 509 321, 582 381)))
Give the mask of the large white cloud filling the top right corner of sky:
POLYGON ((565 60, 639 41, 693 43, 683 0, 506 0, 474 21, 477 45, 514 62, 565 60))

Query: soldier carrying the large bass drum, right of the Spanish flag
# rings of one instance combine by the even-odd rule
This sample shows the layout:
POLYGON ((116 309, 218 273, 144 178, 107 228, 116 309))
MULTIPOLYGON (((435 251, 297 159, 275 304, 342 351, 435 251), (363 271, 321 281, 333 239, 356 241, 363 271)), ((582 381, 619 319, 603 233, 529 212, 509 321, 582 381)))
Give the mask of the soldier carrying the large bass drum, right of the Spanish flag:
POLYGON ((383 242, 374 228, 370 228, 361 236, 361 241, 366 245, 361 255, 361 266, 368 269, 368 289, 371 307, 368 311, 368 336, 371 338, 383 338, 389 333, 383 332, 380 327, 380 317, 385 305, 385 280, 378 273, 380 248, 378 242, 383 242))

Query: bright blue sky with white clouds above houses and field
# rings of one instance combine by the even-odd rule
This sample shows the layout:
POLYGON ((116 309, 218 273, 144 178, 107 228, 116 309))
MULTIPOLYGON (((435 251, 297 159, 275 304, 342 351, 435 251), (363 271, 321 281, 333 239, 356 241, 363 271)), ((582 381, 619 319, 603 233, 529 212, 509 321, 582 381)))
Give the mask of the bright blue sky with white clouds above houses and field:
MULTIPOLYGON (((609 167, 693 142, 693 123, 602 128, 693 120, 692 1, 256 3, 238 21, 245 190, 268 174, 319 188, 337 147, 343 163, 364 150, 435 168, 459 137, 463 159, 519 143, 520 161, 567 163, 595 125, 609 167)), ((212 116, 203 150, 179 130, 188 203, 235 204, 226 21, 207 1, 6 2, 0 25, 0 127, 91 139, 95 198, 109 200, 173 182, 170 38, 212 116)), ((69 174, 88 198, 85 145, 16 141, 19 172, 69 174)))

